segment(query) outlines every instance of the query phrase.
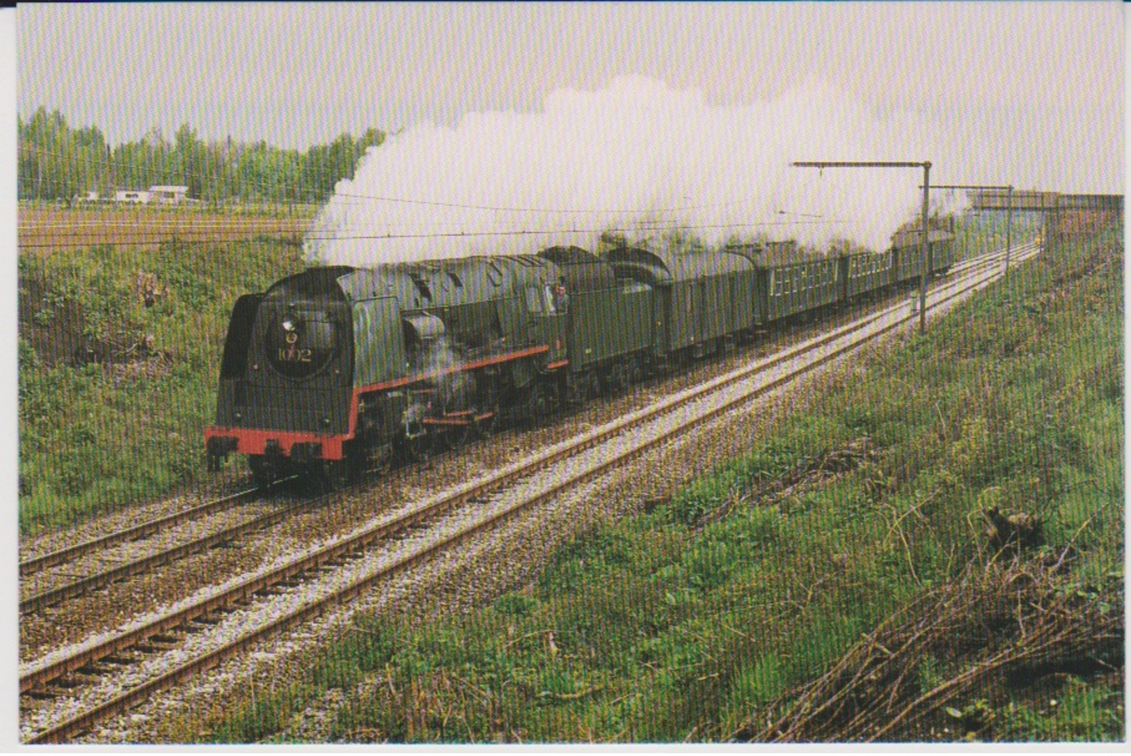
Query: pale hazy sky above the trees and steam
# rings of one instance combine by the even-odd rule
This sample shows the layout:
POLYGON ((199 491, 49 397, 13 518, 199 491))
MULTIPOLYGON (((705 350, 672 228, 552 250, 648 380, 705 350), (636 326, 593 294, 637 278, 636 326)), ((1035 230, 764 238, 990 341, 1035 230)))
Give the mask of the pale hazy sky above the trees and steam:
POLYGON ((819 83, 905 114, 922 136, 907 157, 956 180, 1113 192, 1122 16, 1117 1, 32 3, 16 10, 18 112, 59 109, 111 144, 188 123, 307 149, 536 112, 622 76, 713 108, 819 83))

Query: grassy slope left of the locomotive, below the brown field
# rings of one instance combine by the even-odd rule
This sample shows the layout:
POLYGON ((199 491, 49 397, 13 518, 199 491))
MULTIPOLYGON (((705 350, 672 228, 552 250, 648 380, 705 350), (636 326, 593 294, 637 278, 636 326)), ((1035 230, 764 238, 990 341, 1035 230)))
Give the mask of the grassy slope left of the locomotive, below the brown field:
POLYGON ((302 267, 269 239, 21 252, 20 533, 198 480, 232 306, 302 267))

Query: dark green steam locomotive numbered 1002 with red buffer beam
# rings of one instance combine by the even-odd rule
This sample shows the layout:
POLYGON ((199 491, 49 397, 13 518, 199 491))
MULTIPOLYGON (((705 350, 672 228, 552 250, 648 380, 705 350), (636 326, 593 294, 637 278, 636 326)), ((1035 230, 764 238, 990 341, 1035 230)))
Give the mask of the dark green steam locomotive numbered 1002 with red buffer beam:
POLYGON ((536 412, 564 361, 556 267, 536 256, 311 268, 241 298, 228 327, 213 467, 248 455, 257 481, 331 486, 397 450, 536 412))

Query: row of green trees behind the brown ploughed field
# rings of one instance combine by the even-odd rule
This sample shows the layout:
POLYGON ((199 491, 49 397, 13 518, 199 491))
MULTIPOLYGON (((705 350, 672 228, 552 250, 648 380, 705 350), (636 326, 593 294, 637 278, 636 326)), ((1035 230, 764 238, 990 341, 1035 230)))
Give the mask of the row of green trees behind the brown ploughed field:
POLYGON ((352 179, 365 148, 386 134, 342 134, 305 152, 266 141, 205 140, 187 123, 167 139, 153 128, 138 141, 107 144, 95 126, 72 128, 58 110, 43 106, 27 120, 17 115, 18 196, 64 200, 88 191, 113 197, 118 189, 185 186, 188 196, 227 201, 325 203, 342 179, 352 179))

